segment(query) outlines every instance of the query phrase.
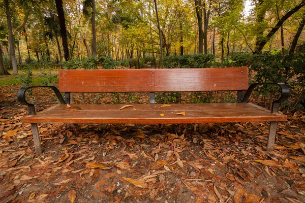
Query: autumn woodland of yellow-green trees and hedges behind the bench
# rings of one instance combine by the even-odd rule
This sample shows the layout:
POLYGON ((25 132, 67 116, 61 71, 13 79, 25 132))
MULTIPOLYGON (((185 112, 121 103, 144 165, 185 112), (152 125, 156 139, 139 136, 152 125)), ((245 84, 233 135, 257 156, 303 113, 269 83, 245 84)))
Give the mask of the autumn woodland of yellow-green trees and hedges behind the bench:
MULTIPOLYGON (((25 70, 18 76, 23 85, 33 83, 35 69, 249 66, 250 82, 289 84, 287 111, 303 105, 305 0, 0 0, 0 6, 0 75, 25 70)), ((262 93, 272 99, 273 92, 262 93)))

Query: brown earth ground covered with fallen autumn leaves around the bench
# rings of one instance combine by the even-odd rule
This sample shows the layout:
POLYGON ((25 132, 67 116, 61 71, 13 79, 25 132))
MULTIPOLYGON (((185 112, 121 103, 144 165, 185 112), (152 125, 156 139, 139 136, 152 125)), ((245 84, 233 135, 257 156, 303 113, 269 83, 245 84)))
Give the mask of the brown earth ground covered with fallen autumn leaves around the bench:
MULTIPOLYGON (((1 202, 305 202, 305 112, 287 113, 272 152, 268 123, 42 123, 37 156, 17 90, 0 89, 1 202)), ((37 111, 56 101, 33 95, 37 111)))

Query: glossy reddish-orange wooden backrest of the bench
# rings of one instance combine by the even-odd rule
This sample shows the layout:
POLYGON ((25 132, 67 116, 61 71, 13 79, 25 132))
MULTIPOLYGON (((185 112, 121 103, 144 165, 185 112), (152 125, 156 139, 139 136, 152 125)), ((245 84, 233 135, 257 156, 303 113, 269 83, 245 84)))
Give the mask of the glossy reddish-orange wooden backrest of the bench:
POLYGON ((248 89, 248 67, 60 70, 60 92, 230 91, 248 89))

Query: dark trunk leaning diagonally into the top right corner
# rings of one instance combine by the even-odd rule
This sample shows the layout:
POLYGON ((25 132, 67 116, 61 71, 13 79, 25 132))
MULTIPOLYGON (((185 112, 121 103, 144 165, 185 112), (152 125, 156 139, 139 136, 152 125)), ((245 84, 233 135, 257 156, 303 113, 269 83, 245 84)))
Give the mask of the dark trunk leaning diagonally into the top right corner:
POLYGON ((282 18, 281 20, 279 20, 279 22, 276 24, 276 26, 274 26, 268 33, 268 35, 262 39, 257 39, 256 41, 256 48, 254 53, 255 54, 259 54, 262 49, 264 48, 264 46, 266 45, 266 43, 270 40, 270 38, 278 31, 278 29, 283 25, 283 23, 290 17, 292 16, 295 12, 297 12, 298 10, 300 10, 300 8, 302 8, 305 5, 305 0, 302 0, 302 2, 298 5, 296 5, 293 9, 291 9, 289 12, 287 12, 282 18))

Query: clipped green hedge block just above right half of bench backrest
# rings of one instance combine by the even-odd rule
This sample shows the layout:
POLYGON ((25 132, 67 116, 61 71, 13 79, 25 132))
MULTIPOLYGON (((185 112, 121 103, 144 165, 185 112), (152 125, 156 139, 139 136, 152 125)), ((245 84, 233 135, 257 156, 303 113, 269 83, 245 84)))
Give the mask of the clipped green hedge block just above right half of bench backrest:
POLYGON ((193 68, 193 67, 210 67, 215 62, 213 54, 186 54, 182 56, 166 56, 163 59, 164 67, 168 69, 193 68))

